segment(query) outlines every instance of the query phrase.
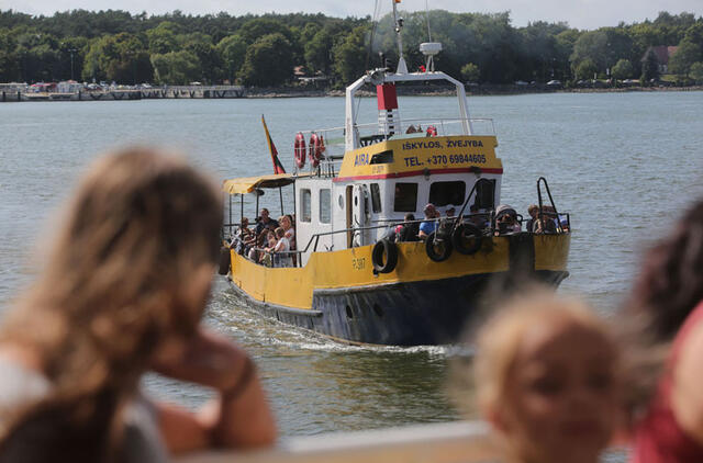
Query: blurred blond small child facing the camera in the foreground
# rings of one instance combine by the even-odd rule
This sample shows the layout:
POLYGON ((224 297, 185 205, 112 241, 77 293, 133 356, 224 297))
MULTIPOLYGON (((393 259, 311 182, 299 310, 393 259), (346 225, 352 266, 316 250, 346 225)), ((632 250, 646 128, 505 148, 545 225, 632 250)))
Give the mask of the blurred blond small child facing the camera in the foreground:
POLYGON ((618 417, 617 349, 589 307, 538 294, 515 298, 480 331, 480 411, 505 461, 596 463, 618 417))

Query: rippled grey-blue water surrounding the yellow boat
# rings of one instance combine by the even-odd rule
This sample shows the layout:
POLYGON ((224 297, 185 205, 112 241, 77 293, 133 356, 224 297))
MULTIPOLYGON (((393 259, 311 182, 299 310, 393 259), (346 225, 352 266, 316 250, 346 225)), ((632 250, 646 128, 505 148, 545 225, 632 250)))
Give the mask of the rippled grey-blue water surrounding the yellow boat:
MULTIPOLYGON (((445 98, 401 100, 401 111, 447 116, 445 98)), ((373 100, 360 111, 373 116, 373 100)), ((562 292, 612 313, 643 248, 703 194, 703 92, 537 94, 470 99, 493 117, 505 168, 503 202, 526 215, 549 180, 573 238, 562 292)), ((179 100, 0 104, 0 312, 31 281, 51 216, 97 154, 166 144, 217 178, 271 171, 266 114, 287 169, 298 129, 339 126, 343 99, 179 100)), ((266 197, 270 201, 270 197, 266 197)), ((448 361, 460 347, 361 349, 259 317, 219 280, 207 323, 256 358, 283 436, 446 421, 448 361)), ((197 406, 209 393, 149 377, 153 394, 197 406)))

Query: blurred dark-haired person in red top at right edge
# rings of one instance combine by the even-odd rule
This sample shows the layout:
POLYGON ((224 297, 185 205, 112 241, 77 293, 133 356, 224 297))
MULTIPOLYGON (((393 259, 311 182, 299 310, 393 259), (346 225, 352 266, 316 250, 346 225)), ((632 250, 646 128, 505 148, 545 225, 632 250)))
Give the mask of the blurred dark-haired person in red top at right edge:
POLYGON ((633 461, 703 462, 703 201, 647 252, 623 315, 633 461))

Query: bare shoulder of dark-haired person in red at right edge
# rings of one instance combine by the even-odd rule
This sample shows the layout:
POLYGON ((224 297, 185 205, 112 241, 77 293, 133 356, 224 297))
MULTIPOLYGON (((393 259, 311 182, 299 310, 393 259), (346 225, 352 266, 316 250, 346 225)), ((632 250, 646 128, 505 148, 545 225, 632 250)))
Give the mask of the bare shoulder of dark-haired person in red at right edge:
POLYGON ((671 408, 685 433, 703 445, 703 324, 691 329, 673 368, 671 408))

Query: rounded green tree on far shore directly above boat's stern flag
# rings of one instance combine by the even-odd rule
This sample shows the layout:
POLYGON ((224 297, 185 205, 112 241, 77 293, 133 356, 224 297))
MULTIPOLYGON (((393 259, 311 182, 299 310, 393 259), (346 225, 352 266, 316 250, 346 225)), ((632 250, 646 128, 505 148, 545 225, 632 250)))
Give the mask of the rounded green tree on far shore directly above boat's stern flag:
POLYGON ((290 80, 293 74, 291 45, 279 33, 264 35, 246 49, 239 75, 247 86, 272 87, 290 80))

